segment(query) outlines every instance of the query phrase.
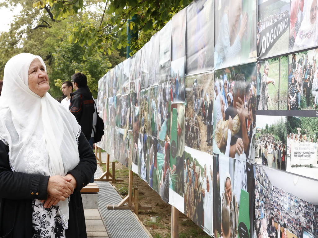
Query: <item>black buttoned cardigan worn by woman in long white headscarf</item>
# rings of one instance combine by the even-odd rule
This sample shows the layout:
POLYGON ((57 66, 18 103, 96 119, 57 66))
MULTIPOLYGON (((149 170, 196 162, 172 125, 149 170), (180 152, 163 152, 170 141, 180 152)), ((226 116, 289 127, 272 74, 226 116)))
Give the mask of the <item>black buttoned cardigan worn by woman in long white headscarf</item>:
MULTIPOLYGON (((70 196, 69 220, 66 237, 86 238, 85 216, 80 190, 91 180, 96 158, 84 134, 79 136, 79 164, 71 171, 77 187, 70 196)), ((31 238, 33 199, 47 198, 50 176, 12 172, 9 164, 9 147, 0 141, 0 237, 31 238), (31 192, 34 192, 31 195, 31 192), (38 192, 38 195, 36 195, 38 192)))

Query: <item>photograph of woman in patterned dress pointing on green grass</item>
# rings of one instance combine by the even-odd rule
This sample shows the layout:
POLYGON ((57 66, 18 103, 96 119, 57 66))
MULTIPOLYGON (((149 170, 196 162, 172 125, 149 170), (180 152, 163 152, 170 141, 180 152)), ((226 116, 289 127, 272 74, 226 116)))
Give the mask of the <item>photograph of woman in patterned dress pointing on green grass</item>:
POLYGON ((257 62, 258 110, 287 110, 288 57, 257 62))

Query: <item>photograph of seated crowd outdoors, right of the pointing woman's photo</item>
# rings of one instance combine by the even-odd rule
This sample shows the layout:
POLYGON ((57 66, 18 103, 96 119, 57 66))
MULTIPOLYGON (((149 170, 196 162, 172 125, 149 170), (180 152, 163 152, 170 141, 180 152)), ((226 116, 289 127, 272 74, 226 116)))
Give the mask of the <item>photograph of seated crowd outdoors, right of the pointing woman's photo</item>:
POLYGON ((317 50, 289 55, 288 110, 316 110, 318 102, 317 50))

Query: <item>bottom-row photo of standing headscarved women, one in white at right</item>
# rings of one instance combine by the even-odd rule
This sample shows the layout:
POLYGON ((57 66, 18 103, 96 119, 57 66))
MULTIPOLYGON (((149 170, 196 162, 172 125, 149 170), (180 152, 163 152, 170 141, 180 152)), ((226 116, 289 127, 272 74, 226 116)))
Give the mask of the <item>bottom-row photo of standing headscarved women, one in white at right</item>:
POLYGON ((185 147, 184 214, 209 235, 213 235, 212 162, 212 155, 185 147))

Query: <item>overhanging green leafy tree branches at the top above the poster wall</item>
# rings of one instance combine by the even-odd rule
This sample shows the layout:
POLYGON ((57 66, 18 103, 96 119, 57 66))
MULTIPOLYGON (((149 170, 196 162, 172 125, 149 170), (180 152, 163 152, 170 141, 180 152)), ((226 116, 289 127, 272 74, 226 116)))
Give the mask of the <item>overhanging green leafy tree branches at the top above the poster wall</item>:
MULTIPOLYGON (((84 58, 90 56, 95 50, 102 55, 110 55, 114 50, 121 50, 128 46, 126 26, 128 20, 137 16, 135 22, 129 22, 129 29, 138 32, 138 39, 130 43, 132 54, 139 50, 150 37, 156 33, 172 18, 193 0, 102 0, 96 1, 98 6, 103 4, 103 14, 99 22, 91 21, 90 16, 74 23, 73 33, 69 40, 79 43, 87 49, 84 58), (107 44, 106 49, 103 44, 107 44)), ((54 20, 61 20, 78 14, 89 4, 84 0, 38 0, 33 7, 39 10, 49 9, 54 20)))

